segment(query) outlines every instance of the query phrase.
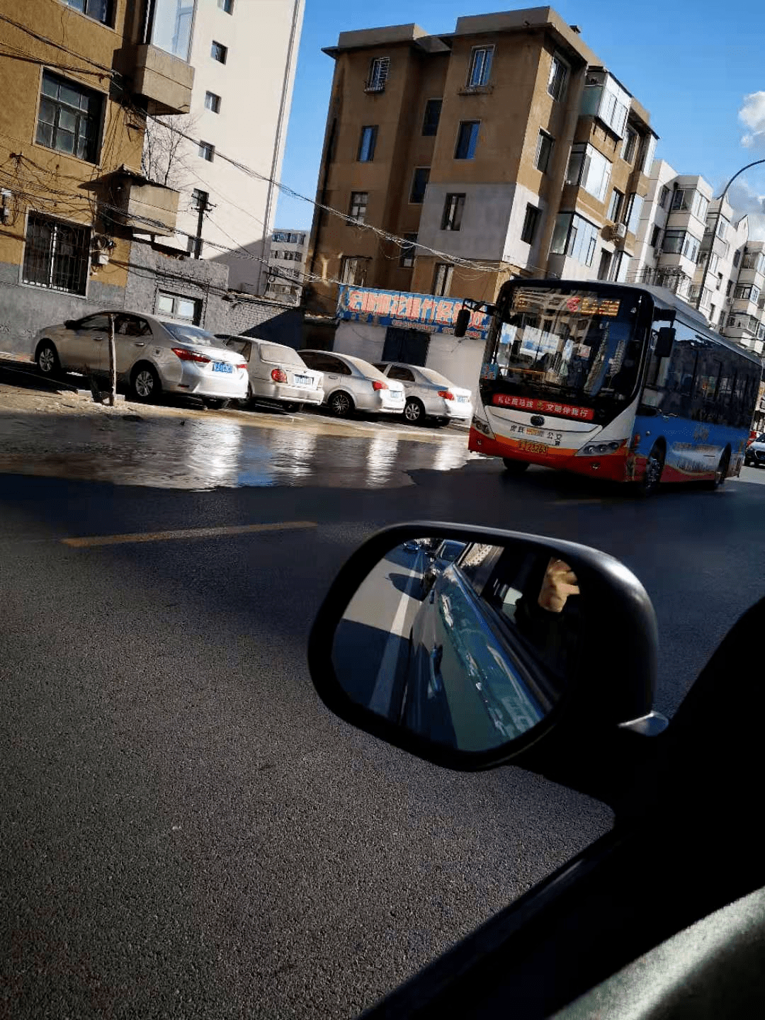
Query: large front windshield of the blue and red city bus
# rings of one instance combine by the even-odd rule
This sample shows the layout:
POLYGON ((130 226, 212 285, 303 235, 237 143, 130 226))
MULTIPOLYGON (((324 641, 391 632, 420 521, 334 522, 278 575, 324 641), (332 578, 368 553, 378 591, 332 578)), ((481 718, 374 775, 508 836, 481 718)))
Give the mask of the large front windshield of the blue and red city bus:
POLYGON ((596 406, 625 403, 640 374, 642 300, 626 290, 509 290, 499 309, 494 377, 529 396, 596 406))

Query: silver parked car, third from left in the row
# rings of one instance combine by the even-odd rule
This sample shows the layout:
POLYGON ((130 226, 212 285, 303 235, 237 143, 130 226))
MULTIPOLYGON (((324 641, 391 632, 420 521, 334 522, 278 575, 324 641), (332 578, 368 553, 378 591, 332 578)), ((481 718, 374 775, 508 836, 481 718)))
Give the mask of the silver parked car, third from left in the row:
POLYGON ((324 404, 333 414, 345 418, 353 411, 401 414, 404 388, 389 380, 374 365, 336 351, 301 351, 300 356, 317 372, 324 373, 324 404))

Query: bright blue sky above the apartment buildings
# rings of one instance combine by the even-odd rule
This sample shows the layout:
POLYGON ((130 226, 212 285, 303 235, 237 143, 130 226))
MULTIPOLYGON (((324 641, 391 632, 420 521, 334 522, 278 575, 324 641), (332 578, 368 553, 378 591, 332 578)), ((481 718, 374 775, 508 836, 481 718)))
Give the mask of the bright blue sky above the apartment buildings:
MULTIPOLYGON (((333 60, 322 46, 341 32, 416 21, 430 33, 453 32, 457 17, 532 3, 504 0, 306 0, 282 181, 314 198, 333 60)), ((738 167, 765 158, 765 10, 762 0, 558 0, 552 5, 651 112, 657 156, 678 173, 701 173, 721 190, 738 167), (644 13, 645 12, 645 13, 644 13), (658 13, 657 13, 658 12, 658 13), (745 97, 750 123, 740 120, 745 97), (758 134, 759 133, 759 134, 758 134), (749 147, 745 135, 753 136, 749 147)), ((734 198, 762 209, 765 166, 750 171, 734 198)), ((278 226, 308 227, 312 206, 282 195, 278 226)), ((765 216, 760 217, 765 232, 765 216)), ((757 232, 760 233, 759 230, 757 232)), ((765 238, 765 233, 762 235, 765 238)))

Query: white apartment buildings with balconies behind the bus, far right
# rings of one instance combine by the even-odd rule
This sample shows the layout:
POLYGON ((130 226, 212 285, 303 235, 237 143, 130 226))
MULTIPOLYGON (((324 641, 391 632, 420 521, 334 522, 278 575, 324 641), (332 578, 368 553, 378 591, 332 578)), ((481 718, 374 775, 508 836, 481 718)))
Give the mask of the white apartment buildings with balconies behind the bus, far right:
POLYGON ((666 287, 694 306, 703 287, 699 307, 710 324, 762 354, 764 249, 750 242, 747 216, 735 219, 727 199, 720 208, 704 177, 654 161, 629 280, 666 287))

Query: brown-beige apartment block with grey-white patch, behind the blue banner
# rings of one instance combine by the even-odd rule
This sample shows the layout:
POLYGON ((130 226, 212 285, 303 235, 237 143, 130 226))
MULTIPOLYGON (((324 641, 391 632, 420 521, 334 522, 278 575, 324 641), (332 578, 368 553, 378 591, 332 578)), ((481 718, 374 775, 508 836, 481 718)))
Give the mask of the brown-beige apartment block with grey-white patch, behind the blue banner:
POLYGON ((309 309, 341 283, 491 301, 518 274, 627 277, 656 135, 575 26, 537 7, 325 52, 317 201, 341 215, 314 217, 309 309))

